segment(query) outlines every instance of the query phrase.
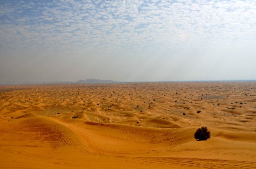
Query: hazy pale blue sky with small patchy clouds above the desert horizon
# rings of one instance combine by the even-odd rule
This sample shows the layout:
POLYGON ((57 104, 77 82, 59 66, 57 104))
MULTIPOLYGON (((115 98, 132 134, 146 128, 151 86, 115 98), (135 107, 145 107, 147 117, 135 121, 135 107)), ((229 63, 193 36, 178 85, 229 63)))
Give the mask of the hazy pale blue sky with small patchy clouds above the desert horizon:
POLYGON ((256 79, 255 0, 0 0, 0 83, 256 79))

